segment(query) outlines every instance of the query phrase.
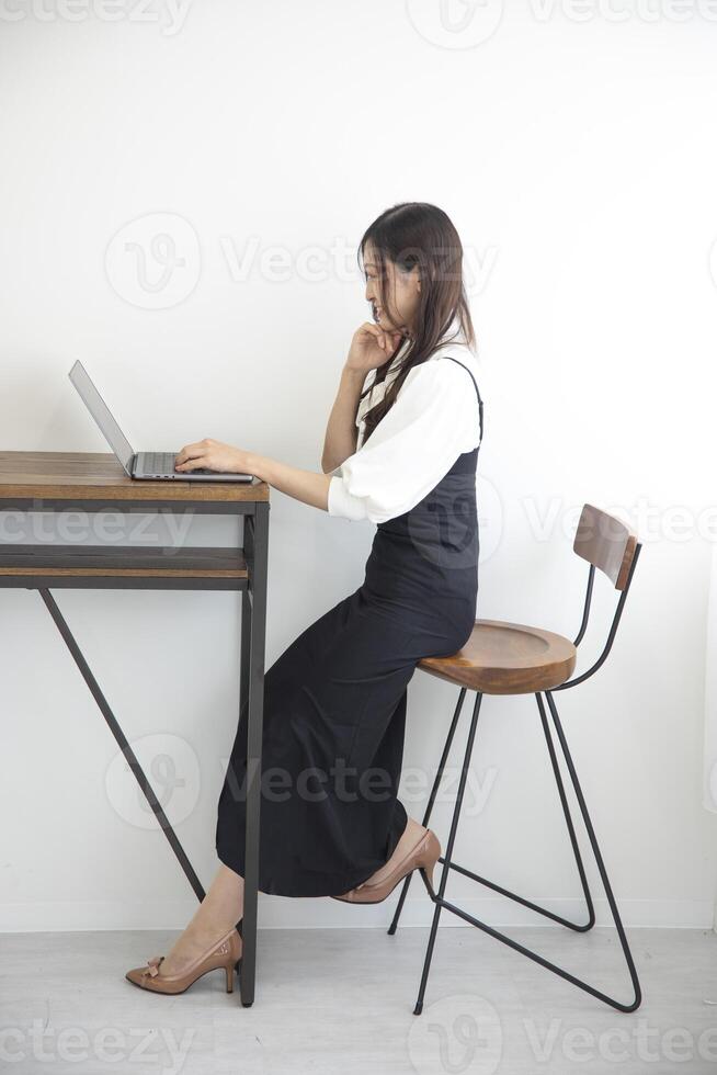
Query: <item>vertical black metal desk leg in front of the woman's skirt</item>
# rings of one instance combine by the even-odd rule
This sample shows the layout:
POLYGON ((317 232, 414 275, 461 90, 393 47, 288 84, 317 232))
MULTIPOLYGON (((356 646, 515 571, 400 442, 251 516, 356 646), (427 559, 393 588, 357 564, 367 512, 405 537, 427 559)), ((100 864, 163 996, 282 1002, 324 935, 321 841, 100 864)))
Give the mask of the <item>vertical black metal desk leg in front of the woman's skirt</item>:
MULTIPOLYGON (((266 629, 266 567, 269 554, 269 503, 258 502, 255 514, 244 522, 244 550, 250 550, 249 593, 251 627, 249 638, 247 720, 247 830, 244 853, 244 908, 241 920, 241 1003, 254 1002, 257 966, 257 904, 259 886, 259 822, 261 807, 261 751, 264 718, 264 640, 266 629), (247 541, 249 539, 249 542, 247 541)), ((247 616, 242 615, 242 629, 247 616)), ((243 647, 242 647, 243 648, 243 647)), ((244 663, 242 661, 242 665, 244 663)))

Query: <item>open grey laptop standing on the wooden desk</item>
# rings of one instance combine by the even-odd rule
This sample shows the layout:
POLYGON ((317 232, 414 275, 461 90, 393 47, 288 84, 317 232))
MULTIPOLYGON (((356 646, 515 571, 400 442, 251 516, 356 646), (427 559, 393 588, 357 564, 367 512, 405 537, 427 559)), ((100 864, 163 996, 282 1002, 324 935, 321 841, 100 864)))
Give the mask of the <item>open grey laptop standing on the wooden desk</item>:
POLYGON ((209 471, 202 467, 195 471, 177 472, 174 461, 179 452, 135 452, 79 360, 68 376, 130 478, 144 478, 150 482, 166 482, 170 478, 179 478, 181 482, 253 480, 253 474, 234 474, 229 471, 209 471))

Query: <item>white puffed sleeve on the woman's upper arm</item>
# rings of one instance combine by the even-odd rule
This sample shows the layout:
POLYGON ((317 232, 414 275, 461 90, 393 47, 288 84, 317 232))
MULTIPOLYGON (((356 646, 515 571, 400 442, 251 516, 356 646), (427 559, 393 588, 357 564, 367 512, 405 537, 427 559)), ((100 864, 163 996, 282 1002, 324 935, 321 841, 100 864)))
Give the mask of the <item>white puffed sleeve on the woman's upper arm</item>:
POLYGON ((407 375, 368 441, 337 468, 328 511, 385 522, 409 511, 480 440, 475 386, 457 362, 433 359, 407 375))

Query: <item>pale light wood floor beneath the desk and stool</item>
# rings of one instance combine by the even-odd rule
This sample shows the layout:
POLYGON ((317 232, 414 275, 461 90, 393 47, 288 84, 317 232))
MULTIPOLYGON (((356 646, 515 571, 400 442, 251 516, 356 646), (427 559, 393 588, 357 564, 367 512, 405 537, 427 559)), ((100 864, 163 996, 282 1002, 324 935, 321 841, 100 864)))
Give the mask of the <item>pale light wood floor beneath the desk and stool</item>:
MULTIPOLYGON (((171 931, 0 936, 0 1071, 15 1075, 667 1075, 717 1072, 717 935, 628 932, 644 1002, 606 1007, 470 927, 439 930, 414 1016, 428 929, 264 929, 257 998, 215 971, 185 994, 124 978, 171 931), (713 1002, 708 1004, 707 1002, 713 1002), (44 1033, 44 1037, 41 1034, 44 1033), (44 1052, 42 1051, 44 1050, 44 1052), (16 1059, 20 1057, 20 1059, 16 1059), (44 1057, 44 1059, 43 1059, 44 1057)), ((614 930, 512 931, 621 999, 614 930)))

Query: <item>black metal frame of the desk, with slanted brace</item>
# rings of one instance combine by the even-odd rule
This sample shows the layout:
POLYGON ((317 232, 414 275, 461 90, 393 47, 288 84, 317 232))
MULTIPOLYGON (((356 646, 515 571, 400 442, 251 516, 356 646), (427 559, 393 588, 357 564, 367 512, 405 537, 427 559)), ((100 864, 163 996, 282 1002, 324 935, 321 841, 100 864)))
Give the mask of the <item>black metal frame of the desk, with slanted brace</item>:
MULTIPOLYGON (((244 860, 244 907, 241 921, 238 924, 242 937, 242 955, 237 963, 240 971, 240 995, 244 1007, 250 1007, 254 1000, 255 965, 257 965, 257 910, 258 910, 258 881, 259 881, 259 826, 260 826, 260 789, 261 789, 261 751, 262 751, 262 727, 263 727, 263 701, 264 701, 264 646, 266 627, 266 575, 268 575, 268 553, 269 553, 269 501, 265 500, 238 500, 238 501, 167 501, 167 500, 70 500, 70 499, 39 499, 33 498, 18 499, 2 497, 0 495, 0 511, 8 509, 20 509, 24 511, 61 511, 68 509, 82 509, 87 511, 101 511, 112 509, 120 512, 170 512, 180 511, 207 514, 238 514, 244 516, 243 525, 243 550, 235 550, 235 553, 243 551, 247 576, 234 578, 216 577, 139 577, 139 576, 41 576, 33 574, 33 554, 38 548, 46 550, 45 545, 2 545, 0 544, 0 563, 4 566, 23 566, 23 561, 30 559, 29 572, 26 575, 3 575, 0 576, 0 588, 33 589, 38 590, 47 611, 53 618, 60 635, 62 636, 75 663, 77 664, 82 678, 88 684, 102 715, 104 716, 110 731, 112 732, 120 749, 125 756, 137 783, 147 799, 155 816, 157 817, 170 847, 192 886, 194 894, 201 902, 205 892, 202 883, 192 867, 180 840, 172 828, 162 806, 155 794, 155 791, 147 779, 134 750, 120 726, 107 700, 92 675, 92 671, 82 655, 82 650, 72 635, 67 621, 62 616, 55 598, 50 593, 50 588, 81 588, 81 589, 193 589, 193 590, 239 590, 241 592, 241 654, 240 654, 240 710, 248 702, 248 787, 247 787, 247 828, 246 828, 246 860, 244 860)), ((137 546, 110 545, 98 550, 88 550, 87 546, 54 546, 53 566, 66 567, 71 570, 77 566, 78 550, 83 548, 86 555, 95 555, 104 561, 105 566, 110 563, 114 567, 137 566, 138 554, 143 551, 137 546), (107 553, 107 547, 111 550, 107 553), (65 553, 64 550, 67 550, 65 553)), ((184 550, 181 555, 194 557, 195 563, 202 562, 204 556, 204 567, 213 568, 217 566, 216 556, 223 550, 202 547, 184 550)), ((226 550, 227 554, 231 550, 226 550)), ((167 555, 167 563, 172 555, 178 555, 178 550, 153 550, 155 557, 167 555)))

